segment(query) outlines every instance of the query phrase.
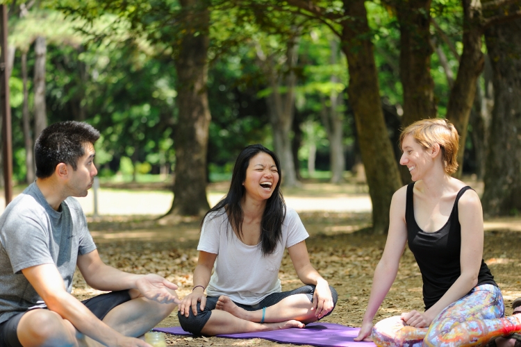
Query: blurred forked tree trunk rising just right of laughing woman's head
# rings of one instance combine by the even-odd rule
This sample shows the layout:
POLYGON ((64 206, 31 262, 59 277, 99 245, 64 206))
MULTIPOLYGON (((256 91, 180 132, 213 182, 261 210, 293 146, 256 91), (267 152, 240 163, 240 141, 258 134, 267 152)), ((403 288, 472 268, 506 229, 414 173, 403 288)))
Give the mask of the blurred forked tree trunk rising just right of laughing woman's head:
POLYGON ((286 187, 296 187, 299 183, 295 174, 295 165, 291 149, 290 131, 295 113, 295 86, 299 42, 297 37, 292 37, 288 42, 286 71, 276 71, 274 56, 265 56, 258 51, 258 58, 263 61, 265 74, 272 93, 267 97, 267 108, 270 112, 270 123, 273 130, 273 145, 275 153, 279 155, 282 168, 282 184, 286 187), (281 87, 286 87, 283 94, 281 87))

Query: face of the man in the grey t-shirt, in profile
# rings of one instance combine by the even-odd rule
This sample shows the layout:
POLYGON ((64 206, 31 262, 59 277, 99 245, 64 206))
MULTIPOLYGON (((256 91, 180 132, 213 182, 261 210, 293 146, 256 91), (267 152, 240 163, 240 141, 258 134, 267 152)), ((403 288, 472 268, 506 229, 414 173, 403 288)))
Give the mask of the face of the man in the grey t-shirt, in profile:
POLYGON ((83 144, 83 151, 85 151, 85 154, 78 159, 76 171, 69 166, 70 178, 67 187, 70 196, 87 196, 88 189, 94 183, 94 176, 98 174, 96 167, 94 167, 94 155, 96 154, 94 145, 91 143, 83 144))

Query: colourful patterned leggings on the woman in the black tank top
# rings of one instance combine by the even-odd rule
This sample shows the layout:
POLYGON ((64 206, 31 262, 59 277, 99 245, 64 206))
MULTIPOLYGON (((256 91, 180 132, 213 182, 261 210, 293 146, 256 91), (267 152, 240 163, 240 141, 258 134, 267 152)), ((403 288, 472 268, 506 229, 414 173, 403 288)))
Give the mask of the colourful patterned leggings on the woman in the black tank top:
POLYGON ((491 339, 521 332, 521 314, 504 317, 503 296, 493 285, 480 285, 447 306, 429 328, 405 325, 400 316, 374 325, 377 346, 482 346, 491 339))

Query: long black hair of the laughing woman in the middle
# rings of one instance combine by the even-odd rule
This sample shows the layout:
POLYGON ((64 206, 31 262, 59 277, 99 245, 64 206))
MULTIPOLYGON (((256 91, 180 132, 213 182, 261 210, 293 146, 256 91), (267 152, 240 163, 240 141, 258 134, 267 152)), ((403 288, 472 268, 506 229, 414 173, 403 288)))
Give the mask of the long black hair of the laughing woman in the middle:
MULTIPOLYGON (((244 212, 242 211, 241 201, 246 192, 245 186, 242 185, 242 183, 244 183, 246 179, 246 169, 249 166, 249 160, 261 152, 267 153, 273 158, 275 166, 279 171, 279 182, 276 183, 272 196, 270 196, 266 202, 266 208, 261 220, 261 236, 258 240, 263 255, 270 255, 275 251, 276 244, 282 237, 282 222, 286 217, 286 203, 284 202, 280 189, 282 181, 281 163, 276 154, 265 146, 252 144, 240 152, 233 166, 233 175, 231 176, 228 194, 226 194, 217 205, 206 212, 204 218, 206 218, 208 214, 219 210, 222 210, 222 213, 226 212, 231 227, 237 231, 238 237, 242 239, 242 220, 244 219, 244 212)), ((218 215, 220 214, 215 214, 215 217, 218 215)), ((201 221, 200 228, 203 227, 203 223, 204 219, 201 221)))

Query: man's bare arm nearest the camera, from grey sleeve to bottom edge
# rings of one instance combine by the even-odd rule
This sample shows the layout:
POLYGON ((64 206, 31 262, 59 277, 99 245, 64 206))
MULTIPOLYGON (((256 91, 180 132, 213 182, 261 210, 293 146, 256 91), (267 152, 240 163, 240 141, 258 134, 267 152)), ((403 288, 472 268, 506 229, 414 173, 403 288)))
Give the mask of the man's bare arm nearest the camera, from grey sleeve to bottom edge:
POLYGON ((22 273, 34 287, 49 310, 60 314, 88 337, 105 346, 150 347, 139 339, 124 337, 97 319, 90 310, 74 296, 67 293, 63 278, 54 264, 42 264, 23 269, 22 273))

